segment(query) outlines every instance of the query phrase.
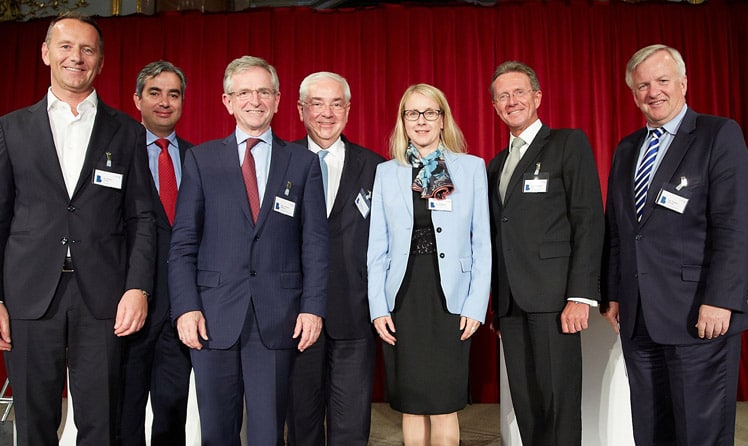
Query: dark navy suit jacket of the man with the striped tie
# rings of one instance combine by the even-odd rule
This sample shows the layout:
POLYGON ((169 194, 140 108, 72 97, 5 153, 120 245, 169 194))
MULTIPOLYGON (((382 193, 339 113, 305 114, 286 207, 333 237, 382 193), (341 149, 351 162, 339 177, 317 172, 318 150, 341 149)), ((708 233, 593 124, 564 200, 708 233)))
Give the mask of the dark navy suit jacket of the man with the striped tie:
POLYGON ((740 127, 689 109, 637 222, 633 178, 646 135, 644 128, 621 140, 608 180, 605 295, 620 302, 622 335, 632 335, 639 305, 662 344, 708 342, 694 327, 701 304, 733 310, 729 332, 744 330, 748 151, 740 127), (684 212, 656 204, 663 185, 675 187, 682 177, 684 212))

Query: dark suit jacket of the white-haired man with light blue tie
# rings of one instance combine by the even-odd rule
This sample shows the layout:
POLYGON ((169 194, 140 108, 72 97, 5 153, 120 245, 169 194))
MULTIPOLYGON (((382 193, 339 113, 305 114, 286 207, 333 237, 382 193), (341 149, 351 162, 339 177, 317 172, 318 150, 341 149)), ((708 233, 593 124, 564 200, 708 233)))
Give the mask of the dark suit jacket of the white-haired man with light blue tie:
MULTIPOLYGON (((335 339, 361 339, 371 335, 366 280, 369 213, 361 215, 355 200, 364 190, 371 197, 377 164, 384 158, 371 150, 345 144, 340 187, 327 217, 330 236, 330 277, 327 282, 325 330, 335 339)), ((308 138, 296 141, 309 147, 308 138)))

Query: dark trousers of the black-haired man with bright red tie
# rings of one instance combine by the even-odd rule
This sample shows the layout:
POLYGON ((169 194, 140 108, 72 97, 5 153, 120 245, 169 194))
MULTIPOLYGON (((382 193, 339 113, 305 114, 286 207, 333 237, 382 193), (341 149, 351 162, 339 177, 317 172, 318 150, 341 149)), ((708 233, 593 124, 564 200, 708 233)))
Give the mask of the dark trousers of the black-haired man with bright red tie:
POLYGON ((145 411, 151 397, 151 445, 185 444, 190 388, 189 349, 166 318, 146 325, 124 342, 121 446, 145 446, 145 411))

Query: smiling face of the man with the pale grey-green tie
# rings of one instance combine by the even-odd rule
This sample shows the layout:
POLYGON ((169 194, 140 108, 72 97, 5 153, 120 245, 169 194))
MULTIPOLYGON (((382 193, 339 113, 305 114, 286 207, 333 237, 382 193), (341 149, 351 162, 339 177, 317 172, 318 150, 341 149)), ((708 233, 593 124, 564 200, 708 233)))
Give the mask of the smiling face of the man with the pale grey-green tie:
POLYGON ((526 74, 514 71, 504 73, 496 78, 491 88, 493 108, 512 135, 519 136, 537 121, 542 93, 533 91, 526 74))

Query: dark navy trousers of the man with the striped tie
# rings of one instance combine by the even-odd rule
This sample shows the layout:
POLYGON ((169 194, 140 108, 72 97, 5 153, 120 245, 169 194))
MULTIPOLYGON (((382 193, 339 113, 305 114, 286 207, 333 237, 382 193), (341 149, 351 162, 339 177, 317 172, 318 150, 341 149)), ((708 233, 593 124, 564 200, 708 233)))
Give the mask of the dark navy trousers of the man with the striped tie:
POLYGON ((658 344, 639 313, 634 337, 621 337, 636 444, 731 446, 740 341, 658 344))

